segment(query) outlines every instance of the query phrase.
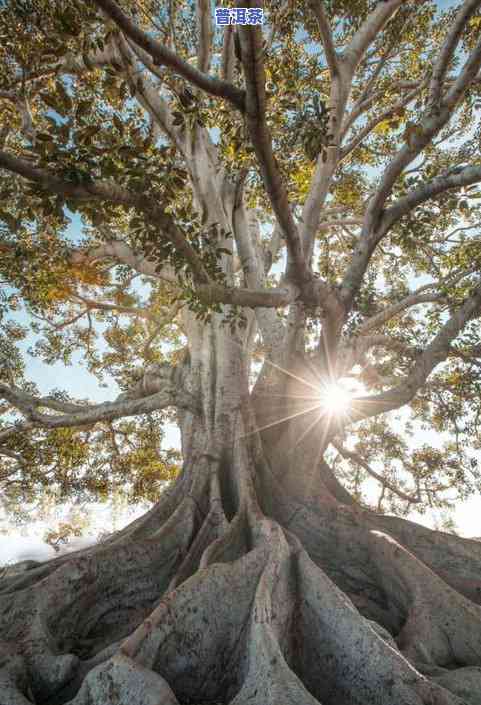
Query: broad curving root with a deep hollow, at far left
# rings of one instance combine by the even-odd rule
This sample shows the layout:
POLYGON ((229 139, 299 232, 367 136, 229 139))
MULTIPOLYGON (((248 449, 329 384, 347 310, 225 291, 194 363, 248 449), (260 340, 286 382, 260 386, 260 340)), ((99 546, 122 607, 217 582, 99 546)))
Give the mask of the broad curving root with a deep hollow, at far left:
POLYGON ((37 698, 75 679, 79 656, 90 657, 135 629, 167 590, 198 526, 186 499, 152 538, 71 557, 41 587, 0 598, 4 638, 21 646, 37 698))

